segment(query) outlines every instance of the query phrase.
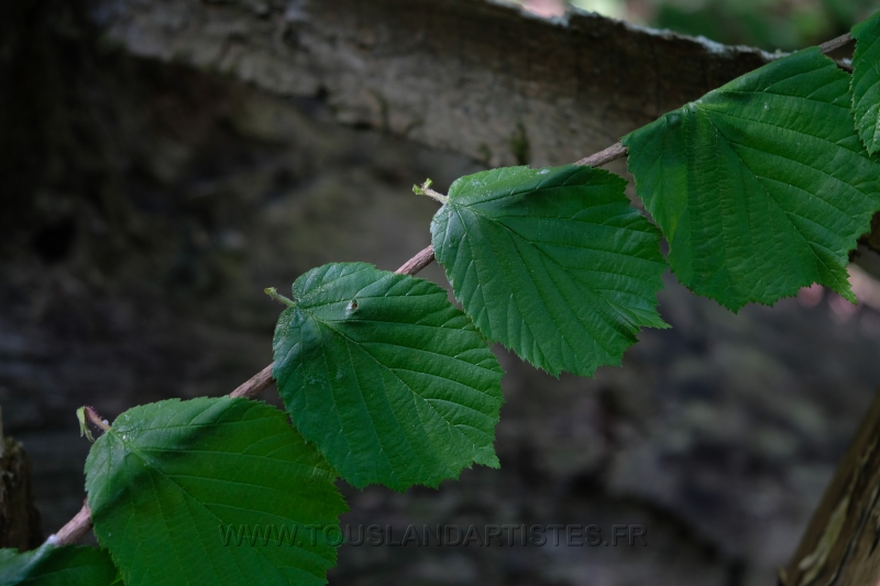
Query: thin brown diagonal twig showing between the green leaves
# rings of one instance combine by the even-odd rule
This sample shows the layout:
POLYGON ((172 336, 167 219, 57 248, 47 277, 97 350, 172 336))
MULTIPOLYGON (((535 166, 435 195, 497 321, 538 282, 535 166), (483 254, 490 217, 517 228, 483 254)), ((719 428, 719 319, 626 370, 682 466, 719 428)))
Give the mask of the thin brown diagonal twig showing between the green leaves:
MULTIPOLYGON (((828 54, 835 49, 838 49, 853 41, 853 37, 849 33, 838 36, 837 38, 832 38, 831 41, 826 41, 818 45, 820 49, 824 54, 828 54)), ((627 155, 627 147, 620 144, 619 142, 613 144, 612 146, 605 148, 604 151, 600 151, 598 153, 592 154, 587 157, 582 158, 574 165, 588 165, 591 167, 601 167, 610 163, 612 161, 617 161, 618 158, 623 158, 627 155)), ((430 189, 430 179, 428 179, 421 186, 413 186, 414 191, 419 195, 427 195, 433 197, 441 203, 446 203, 448 198, 442 196, 441 194, 437 194, 432 189, 430 189), (430 191, 430 192, 429 192, 430 191), (435 195, 440 196, 435 197, 435 195), (443 198, 443 199, 440 199, 443 198)), ((428 246, 422 248, 421 251, 416 254, 413 258, 404 263, 404 265, 395 270, 397 275, 415 275, 429 264, 431 264, 435 259, 433 255, 433 246, 428 246)), ((270 294, 270 290, 266 290, 270 294)), ((273 292, 277 294, 277 291, 273 292)), ((277 299, 276 295, 270 294, 273 298, 277 299)), ((282 300, 282 302, 289 301, 288 299, 282 300)), ((230 397, 246 397, 252 398, 265 389, 267 389, 272 384, 275 382, 272 378, 272 368, 275 366, 275 363, 270 364, 257 374, 252 376, 250 379, 245 380, 235 390, 229 394, 230 397)), ((96 413, 97 414, 97 413, 96 413)), ((97 423, 96 423, 97 424, 97 423)), ((100 425, 102 427, 102 425, 100 425)), ((55 535, 50 535, 50 540, 57 543, 58 545, 75 543, 78 541, 82 535, 85 535, 91 529, 91 510, 89 509, 88 504, 82 505, 82 509, 76 517, 70 519, 67 524, 65 524, 58 533, 55 535)))

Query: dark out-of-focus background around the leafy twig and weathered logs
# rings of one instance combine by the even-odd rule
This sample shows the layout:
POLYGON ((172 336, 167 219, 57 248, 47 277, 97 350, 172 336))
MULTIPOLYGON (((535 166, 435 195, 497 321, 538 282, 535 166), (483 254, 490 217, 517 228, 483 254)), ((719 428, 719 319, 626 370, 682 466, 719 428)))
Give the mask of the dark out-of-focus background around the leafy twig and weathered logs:
MULTIPOLYGON (((842 34, 877 8, 576 5, 771 51, 842 34)), ((48 534, 85 496, 77 407, 113 419, 229 392, 272 360, 280 307, 265 287, 284 292, 331 261, 397 268, 429 243, 437 209, 410 186, 431 177, 446 190, 483 167, 341 126, 319 98, 129 56, 80 2, 0 10, 0 405, 33 460, 48 534)), ((660 312, 673 328, 644 332, 594 379, 496 349, 508 372, 501 471, 405 494, 341 486, 346 523, 639 523, 647 546, 343 545, 331 584, 774 583, 880 383, 880 268, 873 253, 857 262, 858 306, 814 287, 738 314, 668 275, 660 312)), ((436 265, 420 276, 443 283, 436 265)))

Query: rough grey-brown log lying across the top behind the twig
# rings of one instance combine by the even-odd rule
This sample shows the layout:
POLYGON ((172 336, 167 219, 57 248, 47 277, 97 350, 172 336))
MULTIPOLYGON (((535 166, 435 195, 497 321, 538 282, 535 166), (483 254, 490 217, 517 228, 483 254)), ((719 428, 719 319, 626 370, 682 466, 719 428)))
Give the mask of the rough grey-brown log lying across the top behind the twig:
POLYGON ((580 159, 772 58, 482 0, 98 0, 94 14, 136 55, 323 96, 342 122, 492 166, 580 159))

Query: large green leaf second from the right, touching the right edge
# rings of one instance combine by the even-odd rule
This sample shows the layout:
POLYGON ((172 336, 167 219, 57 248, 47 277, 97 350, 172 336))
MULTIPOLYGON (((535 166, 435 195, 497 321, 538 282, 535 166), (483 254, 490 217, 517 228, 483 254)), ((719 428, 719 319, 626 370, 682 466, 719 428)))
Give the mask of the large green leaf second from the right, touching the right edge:
POLYGON ((855 301, 847 253, 880 207, 880 167, 854 132, 848 87, 814 47, 624 137, 681 283, 735 311, 812 283, 855 301))

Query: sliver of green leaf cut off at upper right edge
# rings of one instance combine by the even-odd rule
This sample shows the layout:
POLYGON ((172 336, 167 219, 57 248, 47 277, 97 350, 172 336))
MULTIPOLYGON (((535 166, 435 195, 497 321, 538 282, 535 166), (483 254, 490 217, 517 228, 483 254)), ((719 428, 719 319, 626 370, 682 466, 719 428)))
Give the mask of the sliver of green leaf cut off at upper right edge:
POLYGON ((853 27, 853 111, 868 153, 880 151, 880 12, 853 27))

